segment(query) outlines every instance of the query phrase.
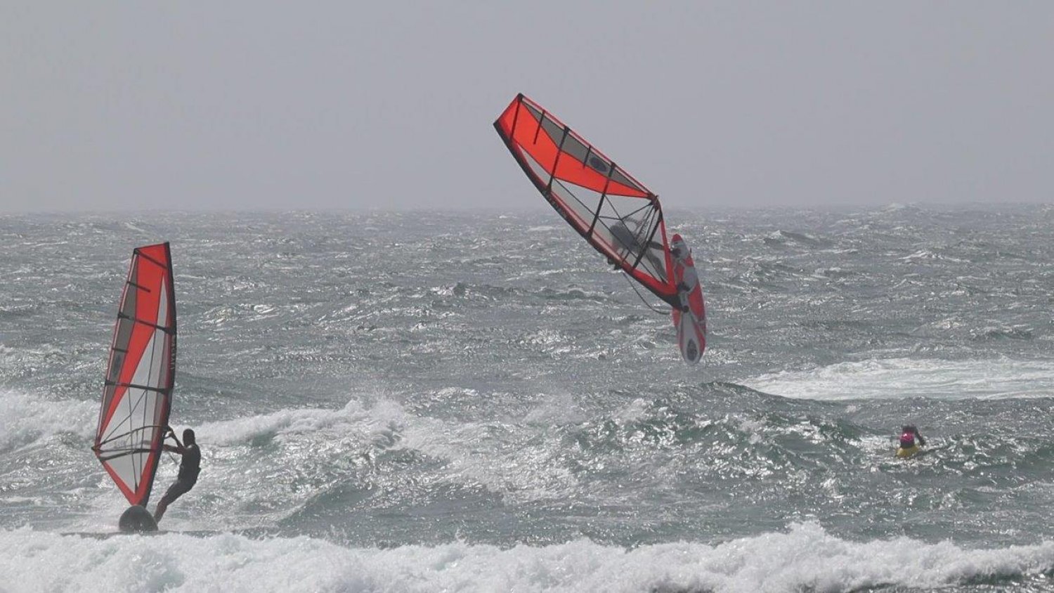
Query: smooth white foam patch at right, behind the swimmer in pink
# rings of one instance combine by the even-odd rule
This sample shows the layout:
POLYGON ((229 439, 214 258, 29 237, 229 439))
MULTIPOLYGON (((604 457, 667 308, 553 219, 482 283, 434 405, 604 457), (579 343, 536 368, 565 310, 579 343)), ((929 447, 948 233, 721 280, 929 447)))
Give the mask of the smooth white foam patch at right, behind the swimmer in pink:
POLYGON ((1051 397, 1054 361, 871 359, 765 374, 743 384, 803 399, 1051 397))

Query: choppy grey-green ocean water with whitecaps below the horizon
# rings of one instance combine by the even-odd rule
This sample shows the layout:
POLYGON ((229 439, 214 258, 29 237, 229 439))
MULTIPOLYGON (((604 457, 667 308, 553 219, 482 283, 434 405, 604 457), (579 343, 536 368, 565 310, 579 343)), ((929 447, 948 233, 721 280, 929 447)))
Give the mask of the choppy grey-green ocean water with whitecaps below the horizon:
POLYGON ((0 590, 1054 590, 1054 209, 667 224, 698 367, 550 211, 0 217, 0 590), (62 535, 160 240, 190 533, 62 535))

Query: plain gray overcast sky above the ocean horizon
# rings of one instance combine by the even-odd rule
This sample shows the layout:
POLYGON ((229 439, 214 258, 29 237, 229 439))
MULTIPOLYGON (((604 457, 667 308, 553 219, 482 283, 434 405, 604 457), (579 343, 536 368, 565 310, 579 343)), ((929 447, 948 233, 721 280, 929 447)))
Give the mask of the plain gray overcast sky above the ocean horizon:
POLYGON ((0 212, 538 204, 518 92, 667 209, 1054 202, 1054 2, 4 2, 0 212))

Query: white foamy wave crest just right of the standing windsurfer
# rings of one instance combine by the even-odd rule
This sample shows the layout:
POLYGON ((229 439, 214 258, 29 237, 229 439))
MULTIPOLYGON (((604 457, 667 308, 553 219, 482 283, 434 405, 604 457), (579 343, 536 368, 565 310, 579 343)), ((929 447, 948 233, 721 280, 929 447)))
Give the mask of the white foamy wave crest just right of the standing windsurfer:
MULTIPOLYGON (((366 460, 372 468, 369 471, 394 471, 393 466, 406 471, 401 466, 405 456, 378 458, 385 452, 404 452, 415 460, 413 476, 423 485, 477 485, 509 500, 538 499, 569 495, 577 485, 559 462, 559 442, 538 439, 536 428, 529 426, 558 414, 551 406, 560 403, 543 403, 528 414, 528 424, 514 424, 501 420, 447 421, 415 415, 388 400, 372 406, 351 400, 339 410, 281 410, 207 422, 196 432, 203 447, 262 448, 275 443, 277 450, 257 454, 264 456, 268 468, 289 468, 316 482, 353 479, 354 468, 348 467, 355 464, 352 459, 366 460)), ((223 467, 236 462, 247 460, 234 451, 221 452, 216 459, 223 467)), ((237 474, 218 471, 225 482, 221 490, 230 492, 232 498, 241 498, 243 485, 228 479, 237 474)), ((262 482, 259 486, 269 487, 262 482)))

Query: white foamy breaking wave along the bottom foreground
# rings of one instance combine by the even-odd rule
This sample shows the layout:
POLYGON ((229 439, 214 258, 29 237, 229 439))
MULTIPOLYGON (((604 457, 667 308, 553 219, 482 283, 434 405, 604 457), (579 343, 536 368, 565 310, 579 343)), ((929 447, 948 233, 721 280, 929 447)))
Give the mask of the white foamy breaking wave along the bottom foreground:
POLYGON ((865 542, 793 525, 717 546, 632 550, 586 539, 501 549, 463 542, 389 550, 309 537, 219 534, 95 539, 0 532, 0 589, 22 591, 850 591, 1038 577, 1054 542, 994 550, 900 537, 865 542), (56 570, 61 567, 61 570, 56 570))

